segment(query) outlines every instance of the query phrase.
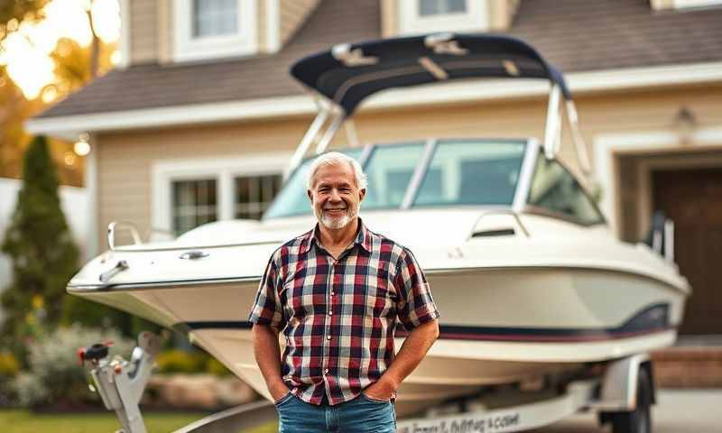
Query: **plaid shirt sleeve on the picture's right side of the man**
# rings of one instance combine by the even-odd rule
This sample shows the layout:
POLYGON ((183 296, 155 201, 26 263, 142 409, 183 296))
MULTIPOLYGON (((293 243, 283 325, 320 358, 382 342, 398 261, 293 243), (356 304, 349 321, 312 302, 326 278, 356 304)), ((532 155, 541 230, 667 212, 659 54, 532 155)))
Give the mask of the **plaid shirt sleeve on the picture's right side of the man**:
POLYGON ((399 256, 393 284, 399 293, 399 320, 407 331, 439 318, 429 282, 412 252, 405 249, 399 256))

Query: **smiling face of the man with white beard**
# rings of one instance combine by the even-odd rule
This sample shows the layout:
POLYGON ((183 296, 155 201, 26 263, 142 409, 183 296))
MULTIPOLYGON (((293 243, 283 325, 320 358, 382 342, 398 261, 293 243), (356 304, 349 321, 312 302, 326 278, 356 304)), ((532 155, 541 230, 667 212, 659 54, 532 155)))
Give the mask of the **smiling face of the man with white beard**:
POLYGON ((309 198, 319 223, 329 229, 348 225, 357 215, 366 189, 358 189, 354 170, 346 162, 316 170, 309 198))

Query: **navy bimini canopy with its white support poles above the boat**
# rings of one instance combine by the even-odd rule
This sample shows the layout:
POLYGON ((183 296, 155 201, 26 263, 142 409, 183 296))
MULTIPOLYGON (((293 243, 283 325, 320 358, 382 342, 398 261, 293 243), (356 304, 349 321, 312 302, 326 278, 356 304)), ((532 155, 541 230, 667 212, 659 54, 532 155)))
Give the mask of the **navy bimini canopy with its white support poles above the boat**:
POLYGON ((551 159, 559 151, 563 106, 581 169, 590 171, 577 111, 561 72, 529 44, 509 36, 437 33, 339 44, 299 60, 291 74, 310 89, 319 115, 293 154, 286 175, 301 163, 311 144, 316 143, 316 154, 325 152, 341 124, 367 97, 390 88, 471 78, 549 80, 544 152, 551 159))

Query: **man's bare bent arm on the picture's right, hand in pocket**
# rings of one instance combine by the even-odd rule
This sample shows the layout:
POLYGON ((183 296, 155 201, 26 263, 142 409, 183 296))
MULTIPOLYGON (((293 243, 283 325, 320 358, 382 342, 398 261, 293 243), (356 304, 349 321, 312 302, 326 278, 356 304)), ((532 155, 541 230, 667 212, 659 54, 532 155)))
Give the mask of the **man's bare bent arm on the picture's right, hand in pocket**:
POLYGON ((389 368, 378 381, 366 388, 364 393, 376 400, 389 400, 406 376, 421 363, 421 359, 438 336, 439 320, 431 320, 414 327, 389 368))

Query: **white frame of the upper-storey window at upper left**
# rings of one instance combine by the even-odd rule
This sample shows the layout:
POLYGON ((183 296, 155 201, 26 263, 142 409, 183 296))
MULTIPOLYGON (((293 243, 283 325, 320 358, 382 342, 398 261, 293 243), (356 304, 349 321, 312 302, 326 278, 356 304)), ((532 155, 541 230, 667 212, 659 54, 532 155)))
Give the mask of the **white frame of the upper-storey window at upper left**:
POLYGON ((193 0, 173 2, 173 60, 178 62, 246 56, 258 52, 258 6, 236 0, 238 31, 221 36, 193 37, 193 0))

